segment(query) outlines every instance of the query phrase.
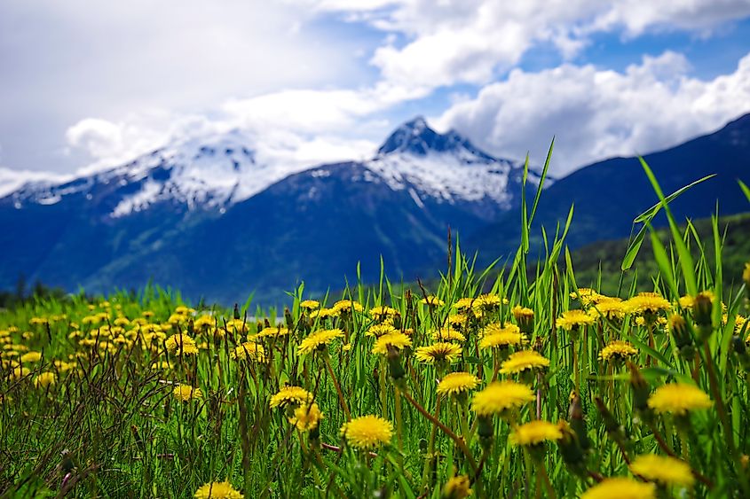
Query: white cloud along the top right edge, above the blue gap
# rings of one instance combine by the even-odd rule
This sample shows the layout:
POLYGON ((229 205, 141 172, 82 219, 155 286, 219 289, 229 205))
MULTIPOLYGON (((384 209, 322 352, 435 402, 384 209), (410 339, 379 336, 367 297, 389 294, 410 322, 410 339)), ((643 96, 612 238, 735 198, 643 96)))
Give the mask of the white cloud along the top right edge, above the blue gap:
POLYGON ((431 88, 491 82, 540 43, 557 47, 569 59, 596 33, 688 30, 706 35, 750 15, 747 0, 300 1, 322 11, 354 13, 352 20, 403 35, 405 43, 385 43, 371 62, 385 81, 431 88))

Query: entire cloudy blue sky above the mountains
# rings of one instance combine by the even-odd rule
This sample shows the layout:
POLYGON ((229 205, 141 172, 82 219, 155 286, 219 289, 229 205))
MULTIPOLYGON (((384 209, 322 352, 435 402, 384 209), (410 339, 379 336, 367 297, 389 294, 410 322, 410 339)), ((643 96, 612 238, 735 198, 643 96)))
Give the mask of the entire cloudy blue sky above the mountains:
POLYGON ((4 0, 0 182, 247 130, 372 156, 424 116, 565 175, 750 112, 750 0, 4 0))

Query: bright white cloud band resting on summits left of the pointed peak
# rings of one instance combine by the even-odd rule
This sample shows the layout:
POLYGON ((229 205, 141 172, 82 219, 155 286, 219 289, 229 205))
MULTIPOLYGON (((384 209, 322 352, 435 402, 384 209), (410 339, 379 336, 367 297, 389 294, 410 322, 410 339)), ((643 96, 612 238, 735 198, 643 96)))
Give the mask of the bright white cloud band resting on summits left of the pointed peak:
POLYGON ((356 160, 375 152, 387 123, 371 116, 387 105, 375 90, 282 90, 247 99, 230 99, 211 119, 166 111, 131 113, 123 121, 86 118, 67 129, 67 144, 92 162, 79 175, 133 160, 169 144, 241 129, 257 152, 272 164, 297 167, 356 160))

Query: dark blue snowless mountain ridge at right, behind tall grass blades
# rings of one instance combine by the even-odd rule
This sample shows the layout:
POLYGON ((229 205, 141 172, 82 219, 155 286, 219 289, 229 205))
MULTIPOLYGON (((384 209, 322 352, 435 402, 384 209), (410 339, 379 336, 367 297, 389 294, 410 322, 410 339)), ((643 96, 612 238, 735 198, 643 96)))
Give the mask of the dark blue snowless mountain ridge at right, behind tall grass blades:
MULTIPOLYGON (((747 200, 737 180, 750 182, 750 113, 705 136, 645 154, 643 160, 665 195, 716 174, 670 203, 678 219, 710 216, 717 200, 721 200, 722 215, 746 211, 747 200)), ((572 205, 573 219, 566 242, 576 248, 596 240, 628 237, 636 216, 658 202, 637 157, 597 161, 558 179, 542 193, 532 230, 533 243, 541 245, 541 226, 549 234, 550 230, 554 233, 558 223, 564 224, 572 205), (602 223, 604 220, 606 223, 602 223)), ((510 210, 464 242, 470 251, 509 254, 520 238, 520 220, 520 212, 510 210)), ((665 218, 660 215, 653 223, 663 225, 665 218)))

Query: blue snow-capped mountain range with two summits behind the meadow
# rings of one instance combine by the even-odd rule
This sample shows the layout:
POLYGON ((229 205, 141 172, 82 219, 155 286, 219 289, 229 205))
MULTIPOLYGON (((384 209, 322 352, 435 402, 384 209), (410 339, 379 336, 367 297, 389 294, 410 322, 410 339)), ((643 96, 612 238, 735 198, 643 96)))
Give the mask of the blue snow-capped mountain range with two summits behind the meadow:
POLYGON ((381 256, 412 278, 441 258, 448 226, 478 230, 520 200, 521 164, 422 118, 364 161, 280 164, 259 158, 256 140, 192 138, 93 175, 26 183, 0 198, 0 285, 20 272, 90 291, 154 279, 191 297, 255 289, 270 300, 298 279, 339 287, 358 261, 376 279, 381 256))

